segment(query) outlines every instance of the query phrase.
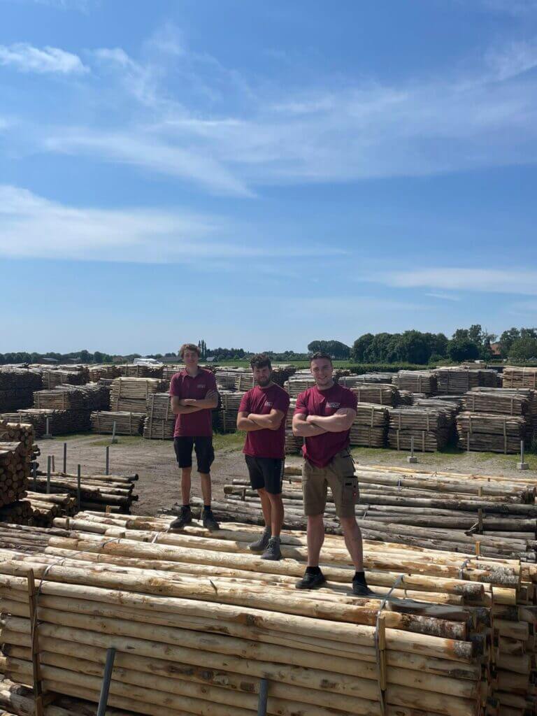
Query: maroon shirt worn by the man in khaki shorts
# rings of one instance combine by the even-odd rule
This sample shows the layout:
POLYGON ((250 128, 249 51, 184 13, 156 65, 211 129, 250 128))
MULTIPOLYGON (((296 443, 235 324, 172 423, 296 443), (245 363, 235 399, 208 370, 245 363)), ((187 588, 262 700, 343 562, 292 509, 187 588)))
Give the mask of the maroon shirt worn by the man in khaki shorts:
MULTIPOLYGON (((348 388, 334 383, 328 390, 319 390, 316 385, 304 390, 296 398, 294 415, 334 415, 342 407, 357 409, 357 397, 348 388)), ((324 468, 339 450, 349 447, 350 430, 323 432, 321 435, 304 438, 302 453, 306 460, 317 468, 324 468)))

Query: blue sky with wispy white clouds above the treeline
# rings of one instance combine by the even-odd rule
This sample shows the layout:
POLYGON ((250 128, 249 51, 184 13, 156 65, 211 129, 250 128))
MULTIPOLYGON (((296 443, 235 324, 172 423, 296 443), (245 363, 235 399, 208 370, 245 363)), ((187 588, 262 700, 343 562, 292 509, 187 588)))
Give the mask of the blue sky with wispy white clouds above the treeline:
POLYGON ((0 0, 0 352, 537 324, 536 0, 0 0))

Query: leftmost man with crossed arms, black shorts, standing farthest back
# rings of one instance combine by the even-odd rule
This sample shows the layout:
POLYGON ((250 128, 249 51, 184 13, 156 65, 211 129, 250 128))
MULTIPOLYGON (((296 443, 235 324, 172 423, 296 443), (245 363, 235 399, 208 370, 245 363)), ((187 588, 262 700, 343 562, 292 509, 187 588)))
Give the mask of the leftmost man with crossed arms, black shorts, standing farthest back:
POLYGON ((170 381, 172 412, 177 415, 173 432, 173 447, 181 470, 181 495, 183 507, 180 516, 170 527, 181 529, 192 522, 190 511, 190 474, 192 473, 192 449, 200 473, 203 494, 203 526, 218 530, 218 522, 211 511, 211 465, 214 460, 213 416, 211 410, 218 407, 216 379, 210 370, 198 367, 200 349, 193 343, 180 348, 185 369, 175 373, 170 381))

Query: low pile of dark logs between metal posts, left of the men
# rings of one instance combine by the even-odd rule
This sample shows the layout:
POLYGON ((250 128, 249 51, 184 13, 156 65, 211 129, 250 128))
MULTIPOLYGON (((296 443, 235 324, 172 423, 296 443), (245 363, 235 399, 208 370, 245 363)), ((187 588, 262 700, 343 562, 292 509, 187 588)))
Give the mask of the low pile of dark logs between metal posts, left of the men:
MULTIPOLYGON (((82 510, 129 513, 132 502, 138 499, 134 483, 138 475, 82 475, 80 479, 80 508, 82 510)), ((37 478, 31 480, 32 490, 47 493, 47 473, 37 470, 37 478)), ((77 475, 51 473, 50 493, 67 493, 78 498, 77 475)))

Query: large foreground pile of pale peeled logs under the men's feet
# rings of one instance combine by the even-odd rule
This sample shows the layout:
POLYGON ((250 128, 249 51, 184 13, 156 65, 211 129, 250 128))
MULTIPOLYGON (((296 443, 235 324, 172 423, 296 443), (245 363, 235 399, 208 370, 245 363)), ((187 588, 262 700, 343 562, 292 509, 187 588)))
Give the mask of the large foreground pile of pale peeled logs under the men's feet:
POLYGON ((4 550, 0 665, 10 679, 32 682, 32 568, 38 581, 46 571, 41 674, 60 694, 97 702, 106 649, 115 647, 109 703, 140 714, 254 715, 262 677, 271 715, 479 716, 489 700, 503 713, 500 699, 508 709, 522 703, 521 716, 531 710, 526 594, 536 577, 516 559, 367 542, 376 594, 356 599, 337 536, 324 544, 329 581, 308 594, 294 589, 303 533, 284 533, 285 559, 271 563, 248 553, 258 530, 243 524, 208 536, 197 525, 163 533, 162 518, 72 522, 46 553, 4 550))

